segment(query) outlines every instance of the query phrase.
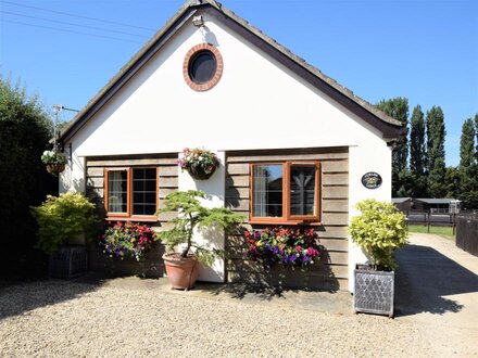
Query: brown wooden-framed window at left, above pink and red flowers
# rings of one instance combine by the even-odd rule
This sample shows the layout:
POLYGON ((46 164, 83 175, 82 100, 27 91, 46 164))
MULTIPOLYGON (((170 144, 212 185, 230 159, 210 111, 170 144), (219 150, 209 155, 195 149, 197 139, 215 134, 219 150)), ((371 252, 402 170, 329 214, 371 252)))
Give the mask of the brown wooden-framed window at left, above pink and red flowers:
POLYGON ((156 220, 158 168, 104 169, 104 208, 110 220, 156 220))

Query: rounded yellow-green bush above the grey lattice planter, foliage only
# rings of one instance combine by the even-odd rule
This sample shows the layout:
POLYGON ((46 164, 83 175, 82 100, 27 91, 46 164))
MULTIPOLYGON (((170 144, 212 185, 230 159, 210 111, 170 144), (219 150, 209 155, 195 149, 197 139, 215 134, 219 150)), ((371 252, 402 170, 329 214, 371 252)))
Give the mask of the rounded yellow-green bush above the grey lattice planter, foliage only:
POLYGON ((372 257, 378 270, 393 270, 397 267, 393 251, 407 243, 405 215, 393 203, 373 199, 364 200, 355 207, 362 214, 351 219, 352 241, 372 257))

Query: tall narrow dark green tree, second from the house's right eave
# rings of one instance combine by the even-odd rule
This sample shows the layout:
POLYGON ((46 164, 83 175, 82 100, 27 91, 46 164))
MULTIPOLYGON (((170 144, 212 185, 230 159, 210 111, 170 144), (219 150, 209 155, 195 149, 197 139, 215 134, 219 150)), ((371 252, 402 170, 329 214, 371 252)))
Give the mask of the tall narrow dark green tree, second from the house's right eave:
POLYGON ((410 170, 412 171, 411 195, 414 197, 427 196, 427 142, 425 117, 420 105, 412 112, 410 132, 410 170))

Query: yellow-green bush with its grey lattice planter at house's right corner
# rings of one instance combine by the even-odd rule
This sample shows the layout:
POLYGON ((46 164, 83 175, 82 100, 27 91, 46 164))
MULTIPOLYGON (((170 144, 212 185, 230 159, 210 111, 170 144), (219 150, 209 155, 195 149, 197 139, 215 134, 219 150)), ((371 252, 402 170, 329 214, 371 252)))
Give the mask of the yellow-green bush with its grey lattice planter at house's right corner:
POLYGON ((393 316, 393 252, 406 245, 405 216, 392 203, 365 200, 356 204, 361 215, 351 219, 350 234, 369 258, 354 270, 355 312, 393 316))

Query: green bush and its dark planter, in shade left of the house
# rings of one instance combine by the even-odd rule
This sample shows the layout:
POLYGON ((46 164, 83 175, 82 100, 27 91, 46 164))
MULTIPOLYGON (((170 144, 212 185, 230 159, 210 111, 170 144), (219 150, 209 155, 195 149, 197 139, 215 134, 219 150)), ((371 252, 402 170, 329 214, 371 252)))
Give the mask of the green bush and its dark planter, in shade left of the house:
POLYGON ((48 195, 40 206, 32 207, 38 222, 37 247, 50 254, 49 273, 72 279, 87 272, 85 240, 96 230, 95 204, 80 193, 48 195))

